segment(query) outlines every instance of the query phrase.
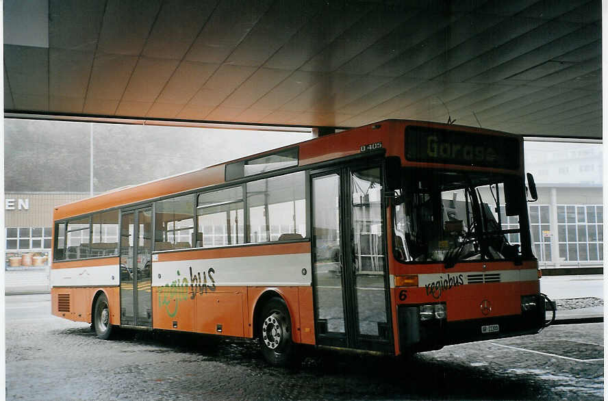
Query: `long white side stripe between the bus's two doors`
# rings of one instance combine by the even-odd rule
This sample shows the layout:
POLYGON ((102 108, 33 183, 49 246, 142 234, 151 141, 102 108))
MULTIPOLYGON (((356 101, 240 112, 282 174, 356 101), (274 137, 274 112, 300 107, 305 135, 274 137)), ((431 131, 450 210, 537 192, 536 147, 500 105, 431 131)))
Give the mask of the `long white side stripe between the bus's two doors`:
POLYGON ((193 281, 216 287, 311 285, 310 263, 308 253, 153 262, 152 286, 190 285, 193 281))

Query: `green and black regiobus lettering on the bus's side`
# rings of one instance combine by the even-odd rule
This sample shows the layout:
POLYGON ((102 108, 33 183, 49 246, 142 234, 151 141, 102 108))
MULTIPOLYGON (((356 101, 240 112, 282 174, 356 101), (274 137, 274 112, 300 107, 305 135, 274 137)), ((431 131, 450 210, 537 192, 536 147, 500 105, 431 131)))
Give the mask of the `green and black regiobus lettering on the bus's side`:
POLYGON ((192 272, 192 266, 189 266, 189 270, 189 279, 188 276, 181 277, 181 272, 177 270, 177 279, 158 287, 158 306, 160 308, 164 307, 170 318, 177 314, 179 302, 188 300, 188 298, 194 299, 198 294, 203 295, 216 290, 214 268, 209 268, 206 272, 203 271, 202 276, 201 272, 192 272), (175 305, 172 306, 173 300, 175 300, 175 305))

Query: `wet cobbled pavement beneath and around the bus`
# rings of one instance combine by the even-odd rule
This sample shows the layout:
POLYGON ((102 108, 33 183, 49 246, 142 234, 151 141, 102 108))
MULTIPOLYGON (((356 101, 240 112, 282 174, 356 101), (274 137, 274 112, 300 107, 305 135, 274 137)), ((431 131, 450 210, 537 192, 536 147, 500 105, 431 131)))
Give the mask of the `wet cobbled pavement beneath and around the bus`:
POLYGON ((6 300, 8 400, 602 399, 603 324, 449 346, 410 358, 312 350, 291 369, 249 340, 121 331, 50 315, 50 296, 6 300))

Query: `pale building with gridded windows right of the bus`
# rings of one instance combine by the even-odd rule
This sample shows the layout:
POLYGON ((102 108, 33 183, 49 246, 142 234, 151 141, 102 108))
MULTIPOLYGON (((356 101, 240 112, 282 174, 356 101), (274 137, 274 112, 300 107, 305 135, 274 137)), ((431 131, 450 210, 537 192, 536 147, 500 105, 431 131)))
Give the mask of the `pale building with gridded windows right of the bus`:
POLYGON ((541 267, 603 266, 602 144, 526 142, 525 163, 538 189, 529 211, 541 267))

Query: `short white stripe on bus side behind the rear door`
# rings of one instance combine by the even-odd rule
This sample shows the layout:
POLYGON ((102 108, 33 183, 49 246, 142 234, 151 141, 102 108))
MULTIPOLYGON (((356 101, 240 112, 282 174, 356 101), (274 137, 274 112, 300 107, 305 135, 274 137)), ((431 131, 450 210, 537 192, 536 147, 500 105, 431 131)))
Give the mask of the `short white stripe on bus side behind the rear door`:
POLYGON ((119 283, 118 265, 51 269, 51 287, 107 287, 119 283))

